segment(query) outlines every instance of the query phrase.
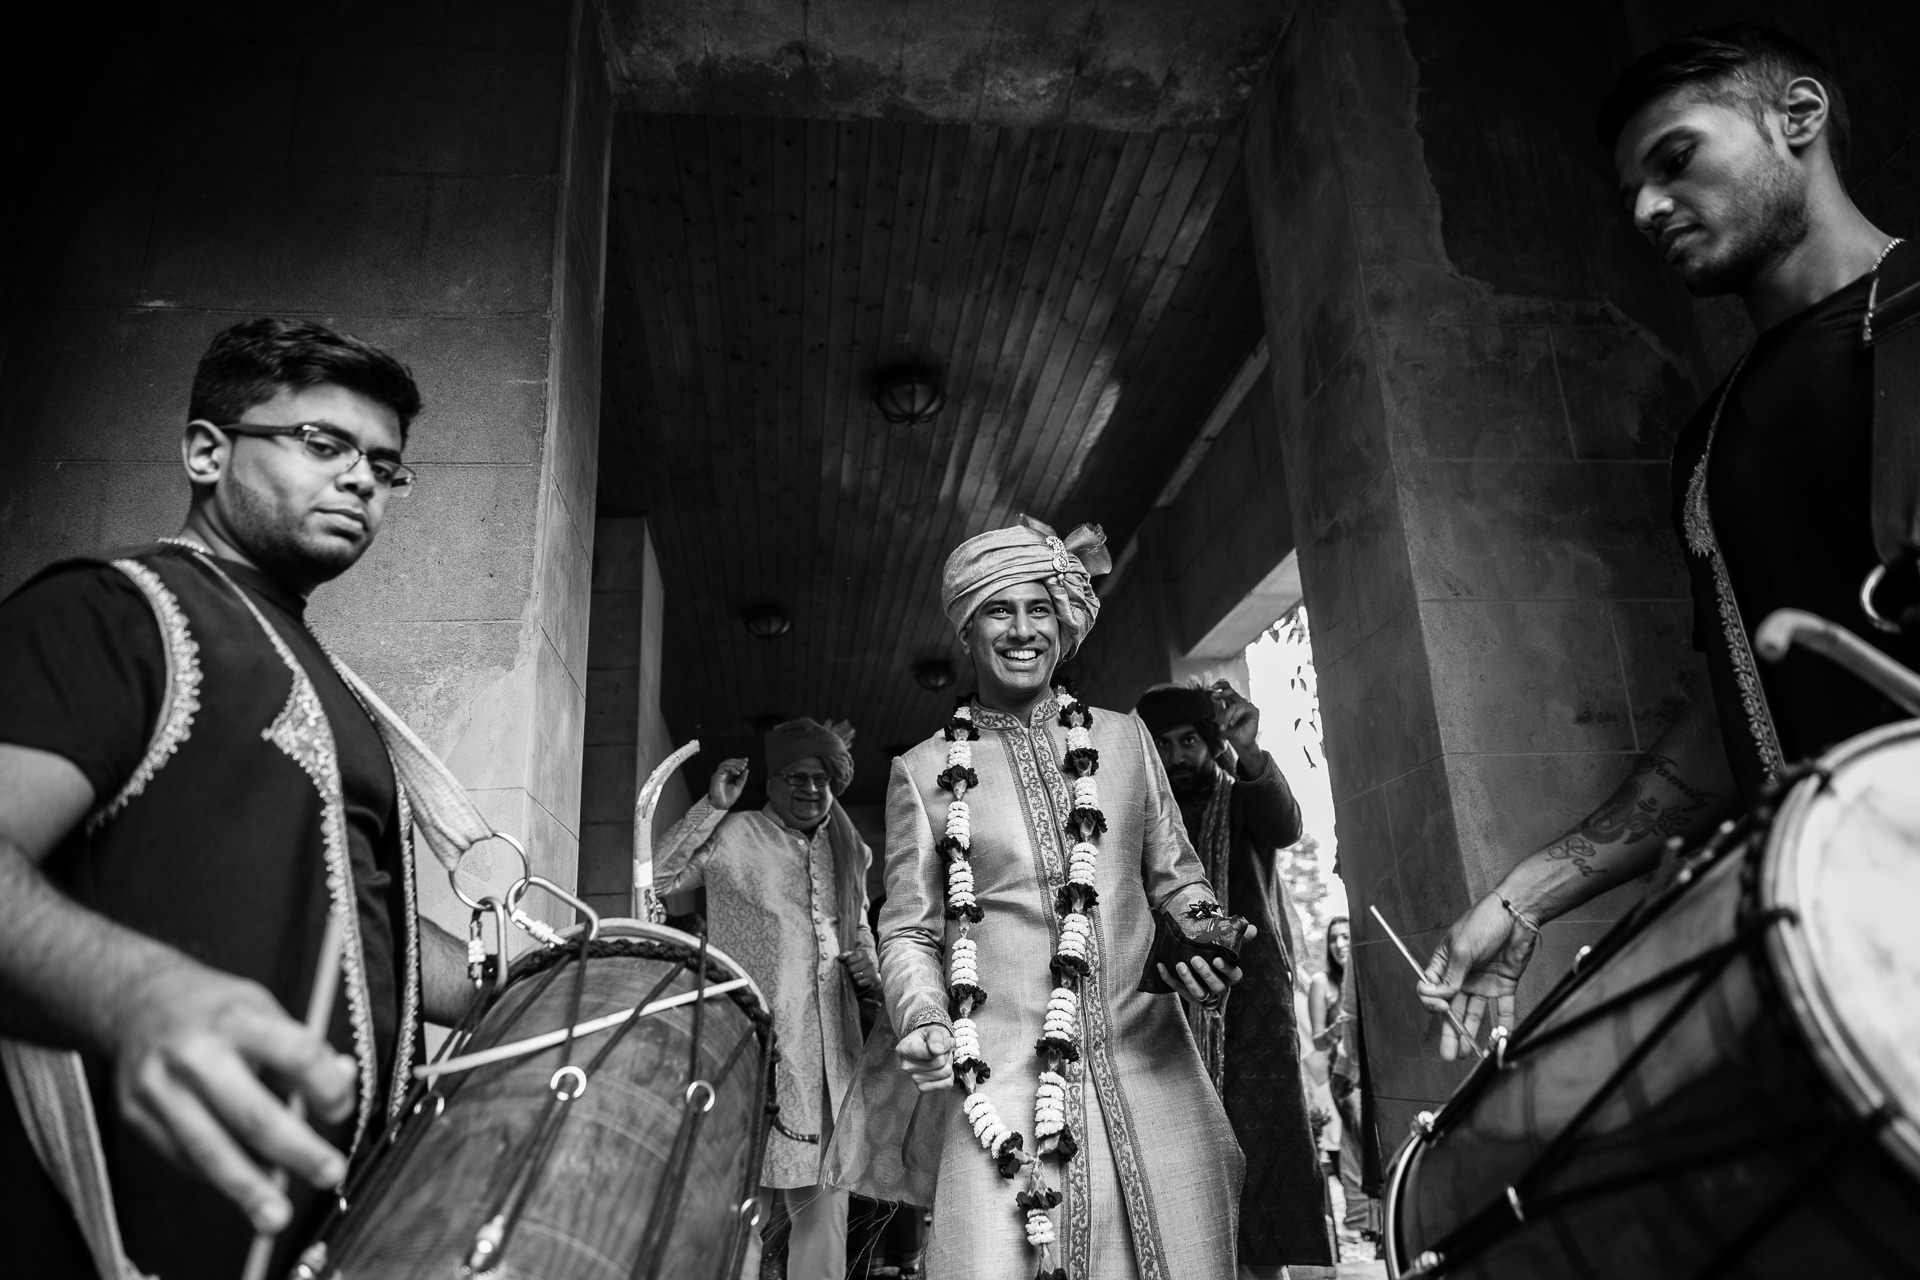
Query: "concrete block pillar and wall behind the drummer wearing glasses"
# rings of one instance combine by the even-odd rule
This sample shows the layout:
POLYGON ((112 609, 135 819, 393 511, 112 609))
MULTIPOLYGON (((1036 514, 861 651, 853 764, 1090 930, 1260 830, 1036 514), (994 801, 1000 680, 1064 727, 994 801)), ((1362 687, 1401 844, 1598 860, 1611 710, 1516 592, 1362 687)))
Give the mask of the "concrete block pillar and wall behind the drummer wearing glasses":
POLYGON ((591 12, 144 12, 46 58, 100 109, 12 246, 33 305, 0 347, 0 585, 179 526, 188 384, 227 324, 390 347, 426 395, 422 482, 315 629, 572 883, 611 113, 591 12))

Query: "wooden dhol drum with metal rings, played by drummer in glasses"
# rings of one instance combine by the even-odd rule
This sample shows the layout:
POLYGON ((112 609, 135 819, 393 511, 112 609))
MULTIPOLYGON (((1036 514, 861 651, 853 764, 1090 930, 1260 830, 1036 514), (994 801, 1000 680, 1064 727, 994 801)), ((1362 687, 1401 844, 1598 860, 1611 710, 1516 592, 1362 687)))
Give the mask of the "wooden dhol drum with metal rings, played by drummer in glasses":
POLYGON ((760 1219, 766 1002, 664 925, 599 921, 584 946, 580 933, 511 967, 296 1276, 739 1274, 760 1219))

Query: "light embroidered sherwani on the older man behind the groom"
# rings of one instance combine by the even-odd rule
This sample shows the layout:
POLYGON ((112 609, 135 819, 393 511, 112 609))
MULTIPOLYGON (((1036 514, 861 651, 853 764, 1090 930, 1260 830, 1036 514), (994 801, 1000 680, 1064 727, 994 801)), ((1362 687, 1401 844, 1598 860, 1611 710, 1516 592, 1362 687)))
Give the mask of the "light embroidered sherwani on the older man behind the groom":
MULTIPOLYGON (((666 833, 653 864, 655 890, 707 885, 707 935, 741 963, 774 1006, 780 1063, 774 1069, 781 1123, 828 1136, 831 1103, 860 1059, 860 1000, 845 965, 843 936, 874 950, 866 917, 843 931, 835 902, 831 823, 795 831, 764 808, 728 814, 701 798, 666 833)), ((860 879, 872 850, 856 848, 860 879)), ((816 1186, 826 1142, 795 1142, 778 1128, 766 1142, 760 1182, 816 1186)))

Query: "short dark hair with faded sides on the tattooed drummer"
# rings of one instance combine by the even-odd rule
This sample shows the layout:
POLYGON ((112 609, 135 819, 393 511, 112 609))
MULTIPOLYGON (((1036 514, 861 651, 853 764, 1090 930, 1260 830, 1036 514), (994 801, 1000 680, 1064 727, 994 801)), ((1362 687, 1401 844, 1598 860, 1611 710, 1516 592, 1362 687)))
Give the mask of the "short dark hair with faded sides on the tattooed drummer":
POLYGON ((1594 134, 1613 148, 1634 111, 1676 88, 1693 88, 1707 102, 1741 109, 1764 129, 1766 109, 1803 75, 1826 88, 1826 150, 1834 171, 1845 175, 1853 129, 1834 73, 1799 40, 1755 23, 1707 27, 1636 58, 1599 106, 1594 134))

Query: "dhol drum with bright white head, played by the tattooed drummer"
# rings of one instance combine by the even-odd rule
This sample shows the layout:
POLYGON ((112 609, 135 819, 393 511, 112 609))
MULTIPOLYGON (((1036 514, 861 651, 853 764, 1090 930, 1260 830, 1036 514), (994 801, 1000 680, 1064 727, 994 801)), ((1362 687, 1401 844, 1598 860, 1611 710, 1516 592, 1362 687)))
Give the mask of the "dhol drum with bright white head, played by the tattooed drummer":
POLYGON ((1394 1276, 1920 1276, 1920 722, 1720 829, 1423 1115, 1394 1276))

